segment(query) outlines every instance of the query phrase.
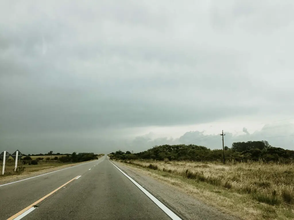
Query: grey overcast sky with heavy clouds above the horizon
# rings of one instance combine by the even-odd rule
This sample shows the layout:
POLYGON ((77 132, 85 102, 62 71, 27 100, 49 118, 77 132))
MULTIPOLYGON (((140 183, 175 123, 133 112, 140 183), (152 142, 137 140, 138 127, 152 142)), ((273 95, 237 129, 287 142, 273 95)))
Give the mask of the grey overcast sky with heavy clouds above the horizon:
POLYGON ((294 149, 293 12, 292 0, 1 1, 0 150, 213 149, 221 130, 228 146, 294 149))

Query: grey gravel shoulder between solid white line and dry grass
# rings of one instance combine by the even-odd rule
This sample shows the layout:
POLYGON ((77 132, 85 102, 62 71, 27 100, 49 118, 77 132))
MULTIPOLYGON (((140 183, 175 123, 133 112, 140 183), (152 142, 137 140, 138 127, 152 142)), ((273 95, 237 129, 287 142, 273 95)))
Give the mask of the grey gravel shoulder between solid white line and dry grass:
POLYGON ((151 194, 175 211, 183 219, 198 220, 237 220, 239 218, 222 213, 214 207, 203 204, 184 189, 170 185, 161 180, 151 177, 148 171, 131 167, 124 163, 112 161, 130 177, 144 186, 151 194))

